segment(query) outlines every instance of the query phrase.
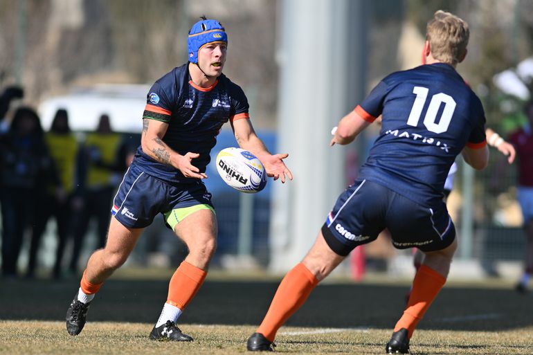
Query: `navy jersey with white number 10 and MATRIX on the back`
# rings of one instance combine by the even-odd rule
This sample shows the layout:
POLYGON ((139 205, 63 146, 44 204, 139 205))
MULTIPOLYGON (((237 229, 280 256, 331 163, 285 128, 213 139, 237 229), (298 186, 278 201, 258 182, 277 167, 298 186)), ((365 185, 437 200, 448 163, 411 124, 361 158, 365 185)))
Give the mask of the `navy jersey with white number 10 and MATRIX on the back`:
POLYGON ((423 205, 442 199, 446 176, 465 145, 487 144, 482 104, 448 64, 388 75, 355 111, 370 122, 382 115, 361 178, 423 205))

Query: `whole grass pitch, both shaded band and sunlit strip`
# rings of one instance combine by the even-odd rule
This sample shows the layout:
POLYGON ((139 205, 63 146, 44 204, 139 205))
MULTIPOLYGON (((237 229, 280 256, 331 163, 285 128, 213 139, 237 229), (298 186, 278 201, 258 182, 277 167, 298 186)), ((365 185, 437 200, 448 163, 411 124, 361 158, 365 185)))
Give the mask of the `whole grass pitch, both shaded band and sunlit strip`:
MULTIPOLYGON (((169 275, 170 277, 170 275, 169 275)), ((117 275, 89 310, 80 336, 64 314, 78 280, 2 280, 0 354, 245 354, 278 280, 211 276, 180 318, 192 343, 147 338, 167 289, 166 275, 117 275)), ((407 282, 327 282, 282 327, 277 352, 383 354, 404 307, 407 282)), ((411 340, 413 354, 533 354, 533 297, 503 280, 446 285, 411 340)))

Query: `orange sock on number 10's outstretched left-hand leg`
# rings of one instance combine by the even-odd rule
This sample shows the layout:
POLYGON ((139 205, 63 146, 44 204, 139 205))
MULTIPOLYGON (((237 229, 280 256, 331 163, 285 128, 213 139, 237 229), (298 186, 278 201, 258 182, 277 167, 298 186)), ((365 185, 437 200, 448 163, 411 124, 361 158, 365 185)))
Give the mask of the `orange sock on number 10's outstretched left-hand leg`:
POLYGON ((304 264, 294 266, 281 281, 278 291, 275 291, 269 311, 266 312, 257 332, 274 341, 278 329, 302 307, 316 284, 318 280, 304 264))

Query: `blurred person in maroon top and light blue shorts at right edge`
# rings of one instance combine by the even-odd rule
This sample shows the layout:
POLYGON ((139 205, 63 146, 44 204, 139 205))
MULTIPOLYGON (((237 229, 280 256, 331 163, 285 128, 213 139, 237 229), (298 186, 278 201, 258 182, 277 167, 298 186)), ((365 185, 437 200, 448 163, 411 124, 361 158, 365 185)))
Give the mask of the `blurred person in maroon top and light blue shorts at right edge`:
POLYGON ((518 156, 518 202, 524 217, 527 237, 524 258, 524 272, 516 290, 525 292, 533 273, 533 101, 525 105, 527 123, 509 136, 509 142, 516 147, 518 156))

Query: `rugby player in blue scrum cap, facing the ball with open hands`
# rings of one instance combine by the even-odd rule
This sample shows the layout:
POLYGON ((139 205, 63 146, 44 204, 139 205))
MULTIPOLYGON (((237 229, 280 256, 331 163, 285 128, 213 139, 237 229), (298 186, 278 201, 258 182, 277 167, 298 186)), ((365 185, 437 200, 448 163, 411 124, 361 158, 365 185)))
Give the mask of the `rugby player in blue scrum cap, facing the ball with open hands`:
POLYGON ((69 334, 80 334, 95 293, 127 260, 143 228, 161 213, 189 254, 170 279, 167 302, 150 338, 192 340, 176 321, 204 282, 215 252, 217 219, 202 179, 207 178, 216 136, 228 120, 237 143, 259 158, 268 176, 282 183, 286 175, 292 179, 283 163, 288 154, 268 152, 255 135, 244 92, 222 74, 227 45, 224 27, 203 17, 189 31, 188 64, 150 89, 141 146, 114 198, 107 244, 91 255, 66 313, 69 334))

